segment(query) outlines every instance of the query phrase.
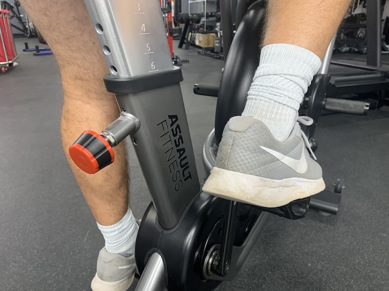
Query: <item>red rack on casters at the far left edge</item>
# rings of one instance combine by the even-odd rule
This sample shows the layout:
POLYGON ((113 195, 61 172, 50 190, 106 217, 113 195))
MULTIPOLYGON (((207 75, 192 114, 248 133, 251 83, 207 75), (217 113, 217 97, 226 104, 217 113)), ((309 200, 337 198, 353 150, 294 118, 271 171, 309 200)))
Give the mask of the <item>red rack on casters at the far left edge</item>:
POLYGON ((0 10, 0 67, 3 73, 13 65, 17 58, 15 43, 13 41, 9 11, 0 10))

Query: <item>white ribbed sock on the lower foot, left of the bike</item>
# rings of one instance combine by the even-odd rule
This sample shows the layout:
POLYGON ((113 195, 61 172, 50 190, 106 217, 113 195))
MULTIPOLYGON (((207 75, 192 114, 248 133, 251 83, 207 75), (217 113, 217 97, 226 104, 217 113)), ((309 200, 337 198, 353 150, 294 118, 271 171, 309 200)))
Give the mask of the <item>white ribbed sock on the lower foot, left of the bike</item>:
POLYGON ((131 209, 114 225, 103 226, 97 223, 105 239, 105 249, 114 254, 129 257, 135 253, 135 241, 138 233, 138 224, 131 209))

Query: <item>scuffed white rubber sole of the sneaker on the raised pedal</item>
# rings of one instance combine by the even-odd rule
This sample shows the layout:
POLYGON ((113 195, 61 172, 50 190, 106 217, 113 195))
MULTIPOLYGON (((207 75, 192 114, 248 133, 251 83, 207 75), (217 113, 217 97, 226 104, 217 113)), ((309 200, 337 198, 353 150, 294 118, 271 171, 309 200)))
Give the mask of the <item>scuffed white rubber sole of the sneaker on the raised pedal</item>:
POLYGON ((203 191, 227 200, 262 207, 280 207, 324 190, 323 178, 272 180, 214 167, 203 191))

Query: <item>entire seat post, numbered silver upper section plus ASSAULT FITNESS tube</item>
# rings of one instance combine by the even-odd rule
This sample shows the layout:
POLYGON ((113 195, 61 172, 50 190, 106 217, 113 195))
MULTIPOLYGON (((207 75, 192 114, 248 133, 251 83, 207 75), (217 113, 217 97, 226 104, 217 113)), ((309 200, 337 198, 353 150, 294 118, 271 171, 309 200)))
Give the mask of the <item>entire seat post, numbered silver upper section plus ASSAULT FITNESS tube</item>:
MULTIPOLYGON (((174 227, 200 190, 182 99, 158 1, 85 0, 110 75, 107 91, 140 120, 131 134, 162 228, 174 227)), ((104 110, 102 108, 102 110, 104 110)))

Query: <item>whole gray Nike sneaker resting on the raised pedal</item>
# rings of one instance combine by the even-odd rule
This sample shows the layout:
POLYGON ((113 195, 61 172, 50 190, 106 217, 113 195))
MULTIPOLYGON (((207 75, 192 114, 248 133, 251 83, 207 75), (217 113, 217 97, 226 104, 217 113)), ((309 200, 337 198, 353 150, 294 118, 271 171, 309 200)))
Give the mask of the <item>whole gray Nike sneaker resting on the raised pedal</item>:
MULTIPOLYGON (((309 117, 297 120, 311 125, 309 117)), ((279 207, 325 188, 321 167, 296 123, 285 141, 260 120, 235 116, 227 123, 215 166, 203 186, 211 195, 262 207, 279 207)))

